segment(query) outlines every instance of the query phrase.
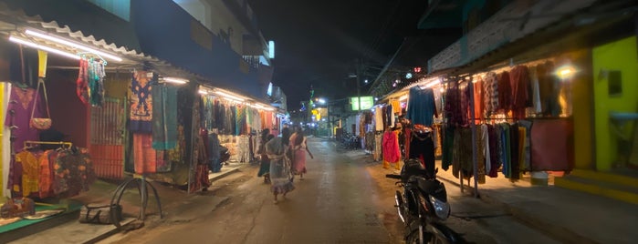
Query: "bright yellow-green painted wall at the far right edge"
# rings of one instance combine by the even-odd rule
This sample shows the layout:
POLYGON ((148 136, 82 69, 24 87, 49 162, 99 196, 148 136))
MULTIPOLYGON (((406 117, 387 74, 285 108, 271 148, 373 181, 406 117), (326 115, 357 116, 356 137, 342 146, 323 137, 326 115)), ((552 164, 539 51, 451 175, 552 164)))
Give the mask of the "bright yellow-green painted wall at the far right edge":
MULTIPOLYGON (((592 50, 592 75, 596 133, 596 168, 610 170, 618 160, 618 136, 612 131, 610 112, 638 111, 638 55, 636 36, 625 38, 592 50), (609 96, 608 81, 601 70, 622 72, 622 95, 609 96)), ((578 103, 578 101, 575 101, 578 103)), ((633 135, 633 127, 626 127, 626 135, 633 135)))

